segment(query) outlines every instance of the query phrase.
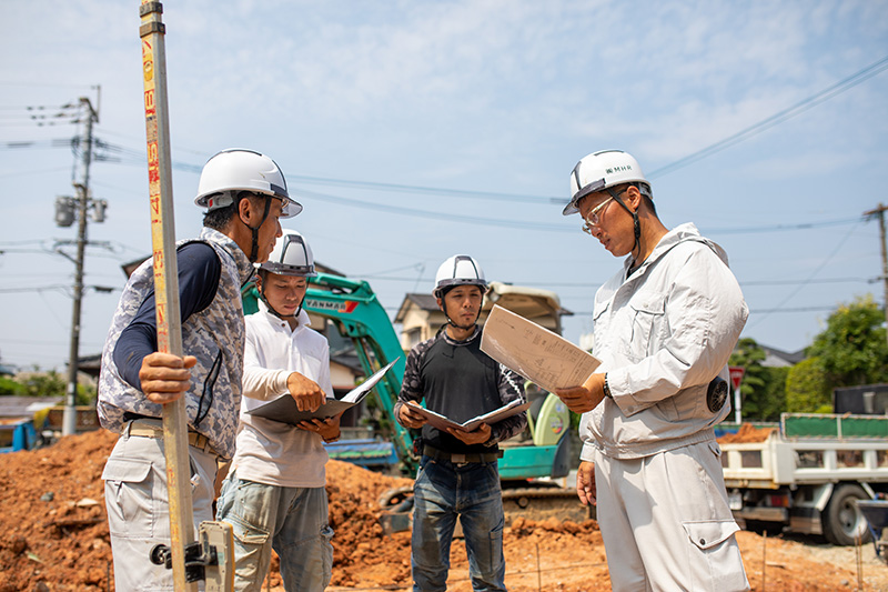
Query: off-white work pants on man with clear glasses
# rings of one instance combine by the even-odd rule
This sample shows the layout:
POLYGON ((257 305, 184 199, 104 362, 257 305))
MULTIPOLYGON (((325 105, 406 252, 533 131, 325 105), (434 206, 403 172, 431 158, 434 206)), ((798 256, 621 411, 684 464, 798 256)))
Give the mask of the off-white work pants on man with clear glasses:
POLYGON ((613 590, 749 590, 715 441, 643 459, 596 452, 598 524, 613 590))

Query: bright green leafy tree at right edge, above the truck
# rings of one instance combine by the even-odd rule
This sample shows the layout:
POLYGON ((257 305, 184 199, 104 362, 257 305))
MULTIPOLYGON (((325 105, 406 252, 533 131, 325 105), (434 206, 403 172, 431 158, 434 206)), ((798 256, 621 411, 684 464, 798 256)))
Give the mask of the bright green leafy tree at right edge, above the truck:
POLYGON ((820 359, 828 388, 888 382, 885 314, 872 295, 840 305, 808 348, 820 359))

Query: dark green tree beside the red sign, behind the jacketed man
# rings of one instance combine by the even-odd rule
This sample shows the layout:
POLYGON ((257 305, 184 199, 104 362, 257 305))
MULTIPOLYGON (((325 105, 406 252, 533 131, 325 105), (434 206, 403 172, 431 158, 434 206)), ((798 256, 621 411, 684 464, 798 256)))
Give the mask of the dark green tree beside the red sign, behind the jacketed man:
POLYGON ((750 338, 737 342, 737 348, 730 354, 729 364, 745 370, 740 383, 740 411, 746 420, 777 421, 786 410, 787 370, 761 365, 766 357, 765 350, 750 338))

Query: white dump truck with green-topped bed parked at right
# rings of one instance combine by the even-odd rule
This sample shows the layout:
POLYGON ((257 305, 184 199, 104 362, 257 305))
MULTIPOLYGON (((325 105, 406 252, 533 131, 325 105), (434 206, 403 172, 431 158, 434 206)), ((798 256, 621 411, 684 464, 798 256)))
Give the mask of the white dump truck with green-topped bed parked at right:
POLYGON ((784 413, 779 427, 719 443, 741 525, 823 534, 838 545, 870 539, 856 501, 888 496, 888 418, 784 413))

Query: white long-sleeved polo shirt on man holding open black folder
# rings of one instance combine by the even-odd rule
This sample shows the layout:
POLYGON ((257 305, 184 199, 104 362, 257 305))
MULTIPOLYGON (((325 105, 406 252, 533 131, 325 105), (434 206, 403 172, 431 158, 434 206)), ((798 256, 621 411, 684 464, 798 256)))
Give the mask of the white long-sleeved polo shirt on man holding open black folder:
POLYGON ((330 345, 326 338, 309 329, 311 321, 304 310, 291 331, 264 302, 259 302, 259 309, 245 319, 244 397, 232 470, 236 469, 240 479, 269 485, 323 488, 329 455, 319 434, 245 412, 278 397, 290 397, 286 379, 294 371, 333 397, 330 345))

